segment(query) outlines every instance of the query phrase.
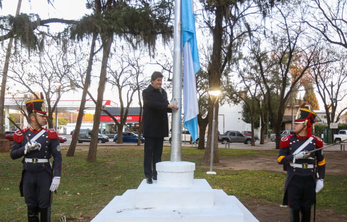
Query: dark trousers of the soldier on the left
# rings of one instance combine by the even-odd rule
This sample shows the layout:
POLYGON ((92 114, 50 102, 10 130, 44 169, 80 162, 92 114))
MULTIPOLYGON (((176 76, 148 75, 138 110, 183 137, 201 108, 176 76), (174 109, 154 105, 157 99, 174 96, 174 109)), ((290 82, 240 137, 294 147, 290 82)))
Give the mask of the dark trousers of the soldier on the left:
MULTIPOLYGON (((40 163, 37 163, 40 164, 40 163)), ((48 163, 49 164, 49 163, 48 163)), ((30 173, 24 172, 23 175, 23 193, 25 204, 28 207, 37 206, 39 208, 48 208, 51 205, 51 174, 46 170, 30 173)))

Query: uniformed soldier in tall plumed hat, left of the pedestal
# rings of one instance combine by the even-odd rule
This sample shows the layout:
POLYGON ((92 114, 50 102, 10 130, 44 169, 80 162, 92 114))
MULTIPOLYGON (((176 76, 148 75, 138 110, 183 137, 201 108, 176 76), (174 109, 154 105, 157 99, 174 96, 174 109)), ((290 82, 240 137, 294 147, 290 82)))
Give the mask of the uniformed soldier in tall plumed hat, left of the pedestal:
POLYGON ((30 127, 22 130, 26 136, 20 130, 14 134, 11 158, 24 157, 19 190, 27 205, 28 221, 49 222, 52 192, 57 190, 61 174, 58 134, 54 129, 42 127, 47 124, 42 94, 41 99, 29 100, 25 105, 30 127), (53 166, 49 161, 51 156, 53 166))

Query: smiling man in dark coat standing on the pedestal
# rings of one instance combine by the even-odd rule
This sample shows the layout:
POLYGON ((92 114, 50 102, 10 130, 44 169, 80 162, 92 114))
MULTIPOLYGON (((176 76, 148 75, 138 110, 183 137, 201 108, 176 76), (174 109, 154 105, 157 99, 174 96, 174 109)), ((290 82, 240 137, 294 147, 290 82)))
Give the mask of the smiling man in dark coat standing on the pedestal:
POLYGON ((142 92, 142 129, 145 137, 143 167, 147 183, 153 183, 152 176, 156 180, 155 164, 161 161, 164 137, 169 136, 167 113, 178 110, 177 105, 169 104, 168 94, 161 88, 162 78, 161 72, 153 72, 151 84, 142 92))

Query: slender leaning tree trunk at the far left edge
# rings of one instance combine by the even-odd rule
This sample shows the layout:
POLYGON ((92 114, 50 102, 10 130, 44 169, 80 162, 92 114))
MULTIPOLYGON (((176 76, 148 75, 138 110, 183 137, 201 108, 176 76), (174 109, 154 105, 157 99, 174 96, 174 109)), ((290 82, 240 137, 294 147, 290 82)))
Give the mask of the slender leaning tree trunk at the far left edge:
MULTIPOLYGON (((21 5, 22 5, 22 0, 18 0, 16 16, 19 14, 21 5)), ((5 119, 3 116, 3 109, 5 107, 7 72, 8 72, 8 64, 10 62, 12 44, 13 44, 13 38, 10 38, 7 45, 7 50, 6 50, 5 64, 3 65, 3 71, 2 71, 1 92, 0 92, 0 140, 5 140, 5 135, 3 132, 3 125, 4 125, 3 121, 5 119)))

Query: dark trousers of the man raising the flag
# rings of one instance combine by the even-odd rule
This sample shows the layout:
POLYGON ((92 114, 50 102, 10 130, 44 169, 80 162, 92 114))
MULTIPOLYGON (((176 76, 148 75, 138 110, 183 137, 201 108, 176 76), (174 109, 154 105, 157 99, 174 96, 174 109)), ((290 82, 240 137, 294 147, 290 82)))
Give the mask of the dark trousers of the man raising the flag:
POLYGON ((161 162, 161 154, 163 152, 163 137, 145 137, 145 154, 143 167, 146 178, 156 176, 155 164, 161 162), (152 171, 153 166, 153 171, 152 171))

